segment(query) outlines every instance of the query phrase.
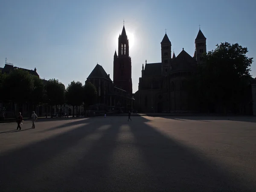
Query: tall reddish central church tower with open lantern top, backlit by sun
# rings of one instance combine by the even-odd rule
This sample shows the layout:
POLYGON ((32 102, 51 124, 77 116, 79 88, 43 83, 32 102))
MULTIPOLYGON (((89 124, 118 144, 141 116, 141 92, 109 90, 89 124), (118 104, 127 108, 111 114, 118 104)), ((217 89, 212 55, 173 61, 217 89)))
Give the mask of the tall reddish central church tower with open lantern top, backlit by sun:
POLYGON ((125 32, 125 25, 118 38, 118 55, 114 54, 113 84, 132 95, 131 57, 129 56, 129 40, 125 32))

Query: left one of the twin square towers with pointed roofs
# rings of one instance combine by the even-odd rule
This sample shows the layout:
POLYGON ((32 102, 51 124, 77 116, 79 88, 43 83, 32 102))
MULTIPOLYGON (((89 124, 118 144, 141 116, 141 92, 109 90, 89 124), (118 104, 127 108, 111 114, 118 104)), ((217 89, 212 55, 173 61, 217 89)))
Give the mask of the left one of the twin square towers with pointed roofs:
POLYGON ((172 44, 167 34, 164 35, 161 42, 161 57, 162 57, 162 75, 166 76, 167 72, 171 68, 172 58, 172 44))

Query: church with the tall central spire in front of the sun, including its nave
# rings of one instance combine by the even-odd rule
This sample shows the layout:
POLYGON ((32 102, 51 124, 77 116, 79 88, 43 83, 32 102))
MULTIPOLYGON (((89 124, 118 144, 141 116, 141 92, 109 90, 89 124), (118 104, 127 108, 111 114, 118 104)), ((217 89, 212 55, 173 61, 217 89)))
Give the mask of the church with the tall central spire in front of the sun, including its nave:
POLYGON ((133 108, 131 57, 129 56, 129 41, 123 26, 118 38, 118 55, 115 51, 113 61, 113 81, 99 64, 87 77, 97 89, 97 104, 95 110, 128 111, 133 108))

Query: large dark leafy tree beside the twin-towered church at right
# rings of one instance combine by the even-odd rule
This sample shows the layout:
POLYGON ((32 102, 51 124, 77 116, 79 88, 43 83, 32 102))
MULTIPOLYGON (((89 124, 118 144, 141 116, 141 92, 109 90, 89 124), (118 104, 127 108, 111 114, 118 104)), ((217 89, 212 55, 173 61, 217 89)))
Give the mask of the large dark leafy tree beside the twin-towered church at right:
POLYGON ((204 108, 218 107, 226 112, 241 103, 253 63, 247 52, 246 47, 225 42, 203 56, 205 65, 198 68, 194 83, 197 81, 196 95, 204 108))

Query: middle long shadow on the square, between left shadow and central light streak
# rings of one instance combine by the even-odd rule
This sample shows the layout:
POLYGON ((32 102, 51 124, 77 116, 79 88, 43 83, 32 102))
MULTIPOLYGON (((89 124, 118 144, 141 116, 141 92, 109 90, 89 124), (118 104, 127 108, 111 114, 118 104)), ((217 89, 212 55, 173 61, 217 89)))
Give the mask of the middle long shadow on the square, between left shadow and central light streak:
POLYGON ((104 131, 103 136, 74 165, 73 172, 66 175, 61 188, 66 191, 111 191, 109 189, 112 189, 113 183, 108 180, 111 173, 111 157, 117 145, 116 140, 121 125, 122 123, 112 125, 104 131))

